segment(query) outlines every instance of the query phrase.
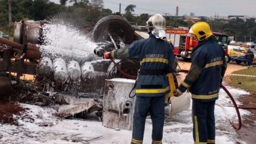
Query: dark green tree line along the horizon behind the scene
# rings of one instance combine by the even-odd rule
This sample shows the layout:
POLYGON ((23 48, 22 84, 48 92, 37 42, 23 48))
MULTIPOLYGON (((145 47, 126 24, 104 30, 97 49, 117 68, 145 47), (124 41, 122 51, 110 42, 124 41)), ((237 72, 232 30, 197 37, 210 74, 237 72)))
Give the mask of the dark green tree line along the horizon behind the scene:
MULTIPOLYGON (((11 2, 11 20, 62 20, 75 27, 94 26, 100 18, 111 14, 110 9, 104 9, 103 0, 60 0, 60 4, 49 0, 0 0, 0 30, 12 35, 12 31, 7 31, 9 27, 9 3, 11 2)), ((122 15, 129 22, 139 26, 145 26, 150 14, 140 14, 135 16, 136 5, 128 5, 122 15)), ((192 22, 184 20, 173 20, 166 16, 167 26, 190 27, 192 22)), ((202 21, 207 21, 205 18, 202 21)), ((240 37, 256 37, 255 19, 242 20, 235 18, 232 20, 211 20, 209 21, 213 31, 225 32, 228 35, 240 37)))

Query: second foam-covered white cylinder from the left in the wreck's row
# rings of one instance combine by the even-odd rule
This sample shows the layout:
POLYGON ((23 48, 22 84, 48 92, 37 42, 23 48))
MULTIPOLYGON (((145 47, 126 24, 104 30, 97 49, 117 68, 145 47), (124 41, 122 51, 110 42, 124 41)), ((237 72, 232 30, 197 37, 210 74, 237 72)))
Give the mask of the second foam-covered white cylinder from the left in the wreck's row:
POLYGON ((66 82, 68 80, 68 72, 66 62, 62 58, 57 58, 53 62, 54 80, 56 82, 66 82))

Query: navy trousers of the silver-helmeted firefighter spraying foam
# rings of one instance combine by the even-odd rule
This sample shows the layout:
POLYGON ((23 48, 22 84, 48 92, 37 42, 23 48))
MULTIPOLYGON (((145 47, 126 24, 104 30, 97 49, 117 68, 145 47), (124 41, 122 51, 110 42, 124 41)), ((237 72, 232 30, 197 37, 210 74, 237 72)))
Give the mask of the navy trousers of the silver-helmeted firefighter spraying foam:
MULTIPOLYGON (((142 97, 137 96, 135 102, 135 112, 133 115, 133 140, 143 141, 145 120, 148 111, 152 119, 152 139, 155 141, 161 141, 163 138, 163 123, 165 97, 142 97)), ((132 142, 133 143, 133 142, 132 142)))

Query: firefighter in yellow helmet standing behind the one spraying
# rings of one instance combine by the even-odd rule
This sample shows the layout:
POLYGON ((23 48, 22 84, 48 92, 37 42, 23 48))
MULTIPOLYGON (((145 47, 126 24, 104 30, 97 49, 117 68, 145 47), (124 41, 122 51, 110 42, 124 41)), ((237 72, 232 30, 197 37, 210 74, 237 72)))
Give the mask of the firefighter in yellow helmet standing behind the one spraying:
POLYGON ((175 90, 175 96, 187 89, 192 94, 194 143, 215 143, 214 107, 226 71, 224 49, 216 43, 206 22, 194 24, 188 34, 198 40, 198 46, 192 52, 188 75, 175 90))

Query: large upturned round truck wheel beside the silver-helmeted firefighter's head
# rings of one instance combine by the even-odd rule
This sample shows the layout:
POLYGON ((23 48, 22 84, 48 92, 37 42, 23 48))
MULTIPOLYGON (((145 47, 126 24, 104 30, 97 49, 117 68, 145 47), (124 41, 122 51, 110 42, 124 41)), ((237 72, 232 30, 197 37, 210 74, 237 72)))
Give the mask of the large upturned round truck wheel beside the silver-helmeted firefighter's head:
POLYGON ((114 40, 120 37, 123 43, 128 45, 135 40, 133 27, 121 16, 110 15, 100 19, 93 28, 93 41, 96 43, 111 41, 108 33, 114 40))

